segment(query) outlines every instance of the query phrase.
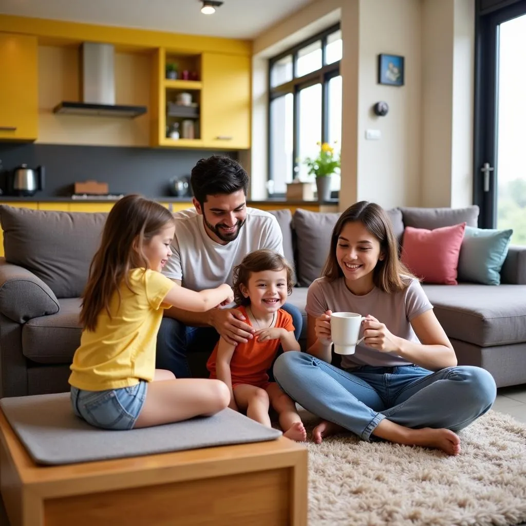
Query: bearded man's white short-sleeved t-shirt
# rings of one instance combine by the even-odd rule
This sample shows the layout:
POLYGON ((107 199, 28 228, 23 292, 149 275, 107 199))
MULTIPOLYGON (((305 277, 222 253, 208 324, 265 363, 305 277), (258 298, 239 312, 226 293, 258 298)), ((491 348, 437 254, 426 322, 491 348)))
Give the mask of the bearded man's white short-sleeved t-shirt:
POLYGON ((283 255, 283 236, 278 220, 272 214, 256 208, 247 208, 247 220, 234 241, 220 245, 210 239, 205 230, 203 216, 195 208, 174 214, 175 236, 173 252, 163 269, 171 279, 191 290, 232 285, 232 269, 254 250, 269 248, 283 255))

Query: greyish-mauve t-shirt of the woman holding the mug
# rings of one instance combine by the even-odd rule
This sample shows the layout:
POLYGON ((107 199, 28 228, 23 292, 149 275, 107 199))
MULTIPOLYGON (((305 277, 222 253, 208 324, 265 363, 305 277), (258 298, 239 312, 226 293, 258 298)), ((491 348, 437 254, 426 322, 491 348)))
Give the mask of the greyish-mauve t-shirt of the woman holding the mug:
MULTIPOLYGON (((346 287, 344 278, 335 281, 318 278, 309 287, 305 310, 315 318, 326 310, 357 312, 362 316, 370 314, 381 323, 385 323, 393 335, 419 342, 410 321, 433 306, 417 279, 407 278, 407 282, 407 289, 400 292, 386 294, 375 287, 365 296, 356 296, 346 287)), ((363 341, 356 346, 353 355, 341 357, 342 369, 352 369, 361 365, 395 367, 409 363, 396 354, 367 347, 363 341)))

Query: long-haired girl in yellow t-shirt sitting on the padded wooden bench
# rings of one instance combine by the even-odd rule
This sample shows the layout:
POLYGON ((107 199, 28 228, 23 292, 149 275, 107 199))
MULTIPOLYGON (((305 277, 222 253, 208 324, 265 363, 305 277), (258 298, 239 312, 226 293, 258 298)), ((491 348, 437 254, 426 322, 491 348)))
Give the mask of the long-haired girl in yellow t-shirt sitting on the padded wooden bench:
POLYGON ((224 383, 176 380, 155 369, 163 309, 206 311, 234 299, 228 285, 194 292, 161 274, 174 230, 165 207, 137 195, 123 197, 108 214, 83 294, 84 329, 69 377, 73 410, 92 426, 157 426, 228 406, 224 383))

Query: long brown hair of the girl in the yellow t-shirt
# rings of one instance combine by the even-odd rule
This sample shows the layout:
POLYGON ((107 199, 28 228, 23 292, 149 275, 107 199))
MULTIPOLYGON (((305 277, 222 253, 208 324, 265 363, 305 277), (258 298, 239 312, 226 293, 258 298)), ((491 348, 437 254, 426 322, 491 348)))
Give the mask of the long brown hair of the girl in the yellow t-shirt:
POLYGON ((171 213, 156 201, 139 195, 127 195, 118 200, 106 219, 100 246, 89 266, 89 277, 82 294, 80 323, 84 329, 94 331, 99 313, 124 281, 131 289, 129 271, 148 268, 143 252, 144 243, 174 224, 171 213))

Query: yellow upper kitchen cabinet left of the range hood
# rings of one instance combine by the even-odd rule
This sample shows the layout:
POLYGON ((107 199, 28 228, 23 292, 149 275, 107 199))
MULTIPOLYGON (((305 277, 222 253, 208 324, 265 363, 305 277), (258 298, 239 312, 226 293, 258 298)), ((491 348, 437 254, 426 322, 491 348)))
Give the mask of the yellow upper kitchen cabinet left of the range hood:
POLYGON ((0 33, 0 141, 38 136, 37 38, 0 33))

